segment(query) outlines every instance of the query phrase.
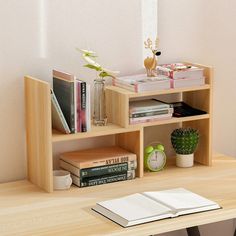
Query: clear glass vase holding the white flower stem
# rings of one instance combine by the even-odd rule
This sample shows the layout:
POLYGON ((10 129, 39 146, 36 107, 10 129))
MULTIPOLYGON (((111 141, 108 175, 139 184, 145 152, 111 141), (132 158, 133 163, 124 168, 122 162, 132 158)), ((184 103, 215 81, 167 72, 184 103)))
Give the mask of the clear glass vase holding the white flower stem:
POLYGON ((107 124, 105 80, 101 77, 94 80, 93 124, 96 126, 105 126, 107 124))

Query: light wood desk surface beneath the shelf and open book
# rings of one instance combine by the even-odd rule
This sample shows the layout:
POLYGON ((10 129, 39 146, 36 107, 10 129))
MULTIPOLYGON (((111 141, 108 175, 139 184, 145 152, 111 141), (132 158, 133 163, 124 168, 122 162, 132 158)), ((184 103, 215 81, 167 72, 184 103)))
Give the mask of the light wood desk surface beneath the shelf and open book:
POLYGON ((28 181, 0 185, 0 235, 152 235, 236 218, 236 159, 218 156, 213 167, 169 167, 142 179, 45 193, 28 181), (98 201, 143 191, 184 187, 223 209, 130 228, 93 212, 98 201))

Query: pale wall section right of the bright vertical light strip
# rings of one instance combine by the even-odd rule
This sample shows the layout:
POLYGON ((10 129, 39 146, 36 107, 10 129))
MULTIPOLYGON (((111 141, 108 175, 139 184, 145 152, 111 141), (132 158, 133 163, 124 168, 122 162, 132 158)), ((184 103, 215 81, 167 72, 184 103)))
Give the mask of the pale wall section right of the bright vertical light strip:
POLYGON ((236 1, 159 0, 162 62, 214 67, 213 149, 236 156, 236 1))

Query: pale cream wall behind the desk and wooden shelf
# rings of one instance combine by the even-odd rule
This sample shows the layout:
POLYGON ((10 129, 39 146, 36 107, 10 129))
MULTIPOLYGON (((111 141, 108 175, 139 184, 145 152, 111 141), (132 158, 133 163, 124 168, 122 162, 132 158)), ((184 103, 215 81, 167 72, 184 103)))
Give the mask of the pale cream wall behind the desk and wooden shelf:
MULTIPOLYGON (((148 1, 155 2, 142 3, 148 1)), ((141 0, 0 0, 0 182, 25 177, 22 77, 30 74, 50 81, 56 67, 92 81, 95 75, 81 69, 75 47, 94 49, 101 63, 122 74, 140 70, 146 37, 140 25, 149 23, 142 21, 148 18, 141 7, 141 0)), ((162 61, 186 59, 215 66, 214 148, 233 156, 235 9, 233 0, 159 0, 162 61)), ((231 221, 218 224, 212 234, 215 227, 202 227, 203 236, 216 236, 216 231, 231 235, 231 221)))

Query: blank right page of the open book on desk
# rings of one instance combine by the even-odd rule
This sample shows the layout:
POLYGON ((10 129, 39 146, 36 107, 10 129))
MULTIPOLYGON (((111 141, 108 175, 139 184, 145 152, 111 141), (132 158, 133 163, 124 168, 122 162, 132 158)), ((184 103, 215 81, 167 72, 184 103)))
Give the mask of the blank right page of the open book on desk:
POLYGON ((159 192, 145 192, 143 194, 153 200, 169 206, 171 209, 175 209, 176 211, 217 205, 215 202, 183 188, 159 192))

